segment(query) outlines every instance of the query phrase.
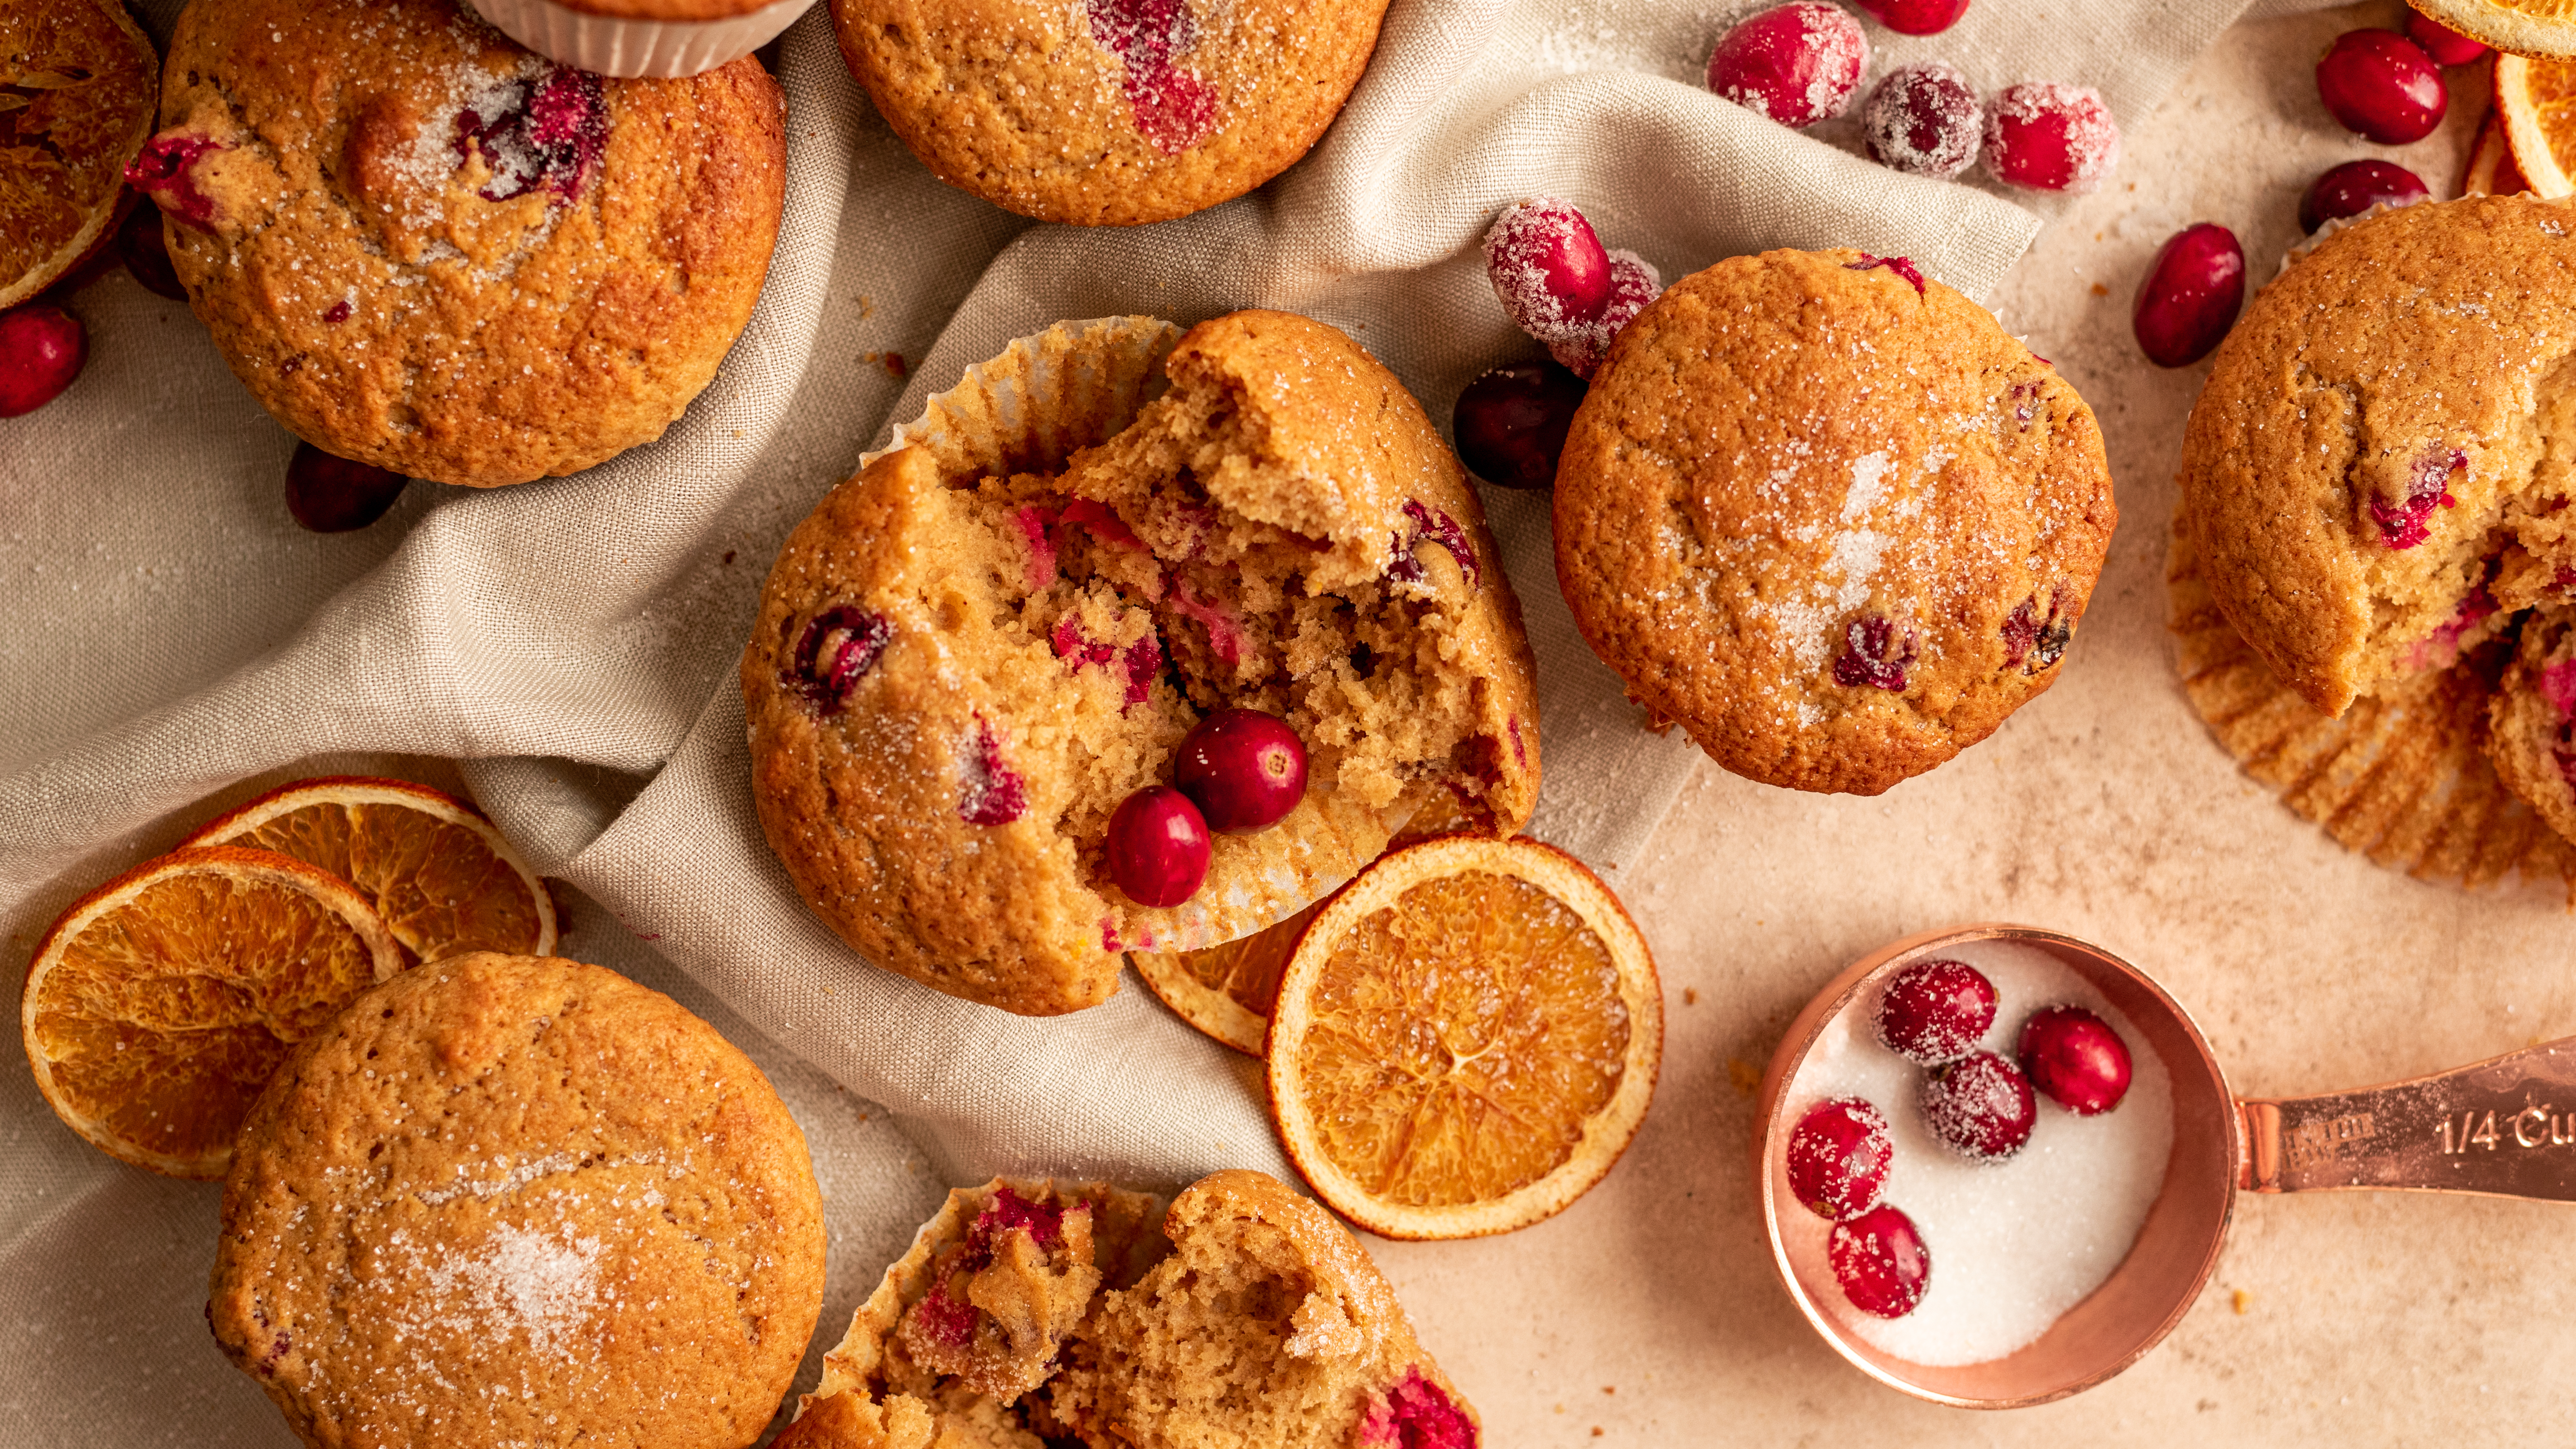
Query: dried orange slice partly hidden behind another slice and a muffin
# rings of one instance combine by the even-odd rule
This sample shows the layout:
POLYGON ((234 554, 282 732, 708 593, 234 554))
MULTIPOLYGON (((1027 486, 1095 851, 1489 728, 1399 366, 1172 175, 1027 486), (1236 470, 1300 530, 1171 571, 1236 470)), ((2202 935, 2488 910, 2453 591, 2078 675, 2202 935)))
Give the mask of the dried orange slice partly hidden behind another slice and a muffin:
POLYGON ((191 846, 258 846, 355 884, 404 957, 554 954, 554 897, 479 810, 425 784, 299 779, 214 820, 191 846))

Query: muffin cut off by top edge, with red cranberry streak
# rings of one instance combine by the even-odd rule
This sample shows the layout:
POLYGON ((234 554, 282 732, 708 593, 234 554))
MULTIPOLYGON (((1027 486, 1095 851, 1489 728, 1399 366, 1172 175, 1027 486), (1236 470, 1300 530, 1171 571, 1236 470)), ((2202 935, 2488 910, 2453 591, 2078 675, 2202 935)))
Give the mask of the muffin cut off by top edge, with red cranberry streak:
POLYGON ((1386 0, 832 0, 850 75, 930 175, 1023 217, 1167 222, 1288 170, 1386 0))

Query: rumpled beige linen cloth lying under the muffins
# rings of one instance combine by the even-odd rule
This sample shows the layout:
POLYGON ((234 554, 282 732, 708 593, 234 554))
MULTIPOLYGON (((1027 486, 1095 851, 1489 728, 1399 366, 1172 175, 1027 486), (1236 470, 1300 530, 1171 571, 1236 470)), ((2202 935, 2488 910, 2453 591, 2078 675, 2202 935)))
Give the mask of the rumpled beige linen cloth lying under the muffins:
MULTIPOLYGON (((587 474, 415 485, 353 536, 286 521, 291 438, 183 307, 124 276, 93 284, 77 299, 88 374, 0 423, 13 962, 75 895, 204 820, 209 797, 322 768, 453 779, 435 758, 456 758, 538 869, 569 882, 564 951, 677 993, 788 1093, 832 1201, 824 1341, 943 1181, 1283 1173, 1255 1062, 1139 982, 1023 1021, 881 975, 806 915, 750 810, 734 694, 768 559, 889 423, 1061 317, 1309 312, 1445 425, 1468 379, 1535 356, 1476 253, 1492 214, 1530 193, 1577 199, 1667 278, 1747 250, 1855 245, 1989 297, 2050 204, 1875 168, 1850 121, 1795 137, 1716 101, 1700 64, 1749 8, 1396 0, 1311 157, 1242 201, 1121 232, 1030 227, 930 180, 806 15, 778 52, 778 258, 716 384, 659 443, 587 474)), ((1873 28, 1873 75, 1942 57, 1981 88, 2079 80, 2136 124, 2244 8, 1978 0, 1947 36, 1873 28)), ((157 36, 173 13, 155 8, 157 36)), ((1540 660, 1533 833, 1615 884, 1695 755, 1643 732, 1574 634, 1546 500, 1486 500, 1540 660)), ((198 1328, 214 1199, 90 1152, 23 1065, 0 1073, 0 1446, 286 1441, 198 1328)))

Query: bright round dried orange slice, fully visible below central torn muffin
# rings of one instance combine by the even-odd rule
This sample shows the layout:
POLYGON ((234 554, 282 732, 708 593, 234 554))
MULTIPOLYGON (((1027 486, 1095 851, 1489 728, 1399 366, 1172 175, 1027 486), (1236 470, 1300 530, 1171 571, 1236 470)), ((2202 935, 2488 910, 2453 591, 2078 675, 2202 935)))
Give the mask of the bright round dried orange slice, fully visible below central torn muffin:
POLYGON ((1306 926, 1270 1016, 1270 1119, 1370 1232, 1510 1232, 1618 1163, 1662 1055, 1654 957, 1610 887, 1553 846, 1448 835, 1306 926))

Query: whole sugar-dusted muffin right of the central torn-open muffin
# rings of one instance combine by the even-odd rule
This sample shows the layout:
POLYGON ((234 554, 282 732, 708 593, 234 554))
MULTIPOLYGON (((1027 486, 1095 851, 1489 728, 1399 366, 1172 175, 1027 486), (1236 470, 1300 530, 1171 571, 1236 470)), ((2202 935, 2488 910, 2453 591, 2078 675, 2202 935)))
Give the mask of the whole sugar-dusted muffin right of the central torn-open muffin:
POLYGON ((1904 258, 1682 278, 1556 469, 1592 650, 1713 761, 1878 794, 2058 678, 2117 521, 2092 407, 1904 258))

